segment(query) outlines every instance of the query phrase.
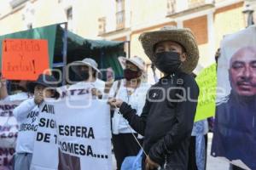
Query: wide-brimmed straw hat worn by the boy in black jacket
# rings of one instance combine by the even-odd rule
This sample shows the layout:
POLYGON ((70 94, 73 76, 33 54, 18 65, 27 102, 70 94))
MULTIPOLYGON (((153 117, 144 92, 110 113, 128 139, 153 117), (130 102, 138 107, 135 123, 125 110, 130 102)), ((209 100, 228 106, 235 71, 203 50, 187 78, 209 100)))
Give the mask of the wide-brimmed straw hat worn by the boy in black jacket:
POLYGON ((173 41, 181 44, 186 50, 187 59, 183 62, 182 71, 191 73, 199 59, 199 51, 195 37, 189 28, 177 28, 175 26, 164 26, 160 31, 144 32, 139 40, 142 42, 144 52, 154 62, 154 45, 158 42, 173 41))

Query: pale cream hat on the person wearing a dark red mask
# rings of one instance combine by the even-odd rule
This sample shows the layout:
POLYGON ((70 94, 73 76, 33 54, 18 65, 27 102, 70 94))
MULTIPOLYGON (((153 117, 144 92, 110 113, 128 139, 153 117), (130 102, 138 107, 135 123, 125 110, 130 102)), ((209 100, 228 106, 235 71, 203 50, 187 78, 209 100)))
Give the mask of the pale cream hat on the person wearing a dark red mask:
POLYGON ((136 65, 141 71, 145 71, 146 69, 146 63, 145 61, 138 57, 138 56, 134 56, 131 59, 125 58, 125 57, 119 57, 119 62, 122 66, 123 69, 125 69, 125 65, 126 65, 126 61, 131 62, 133 65, 136 65))

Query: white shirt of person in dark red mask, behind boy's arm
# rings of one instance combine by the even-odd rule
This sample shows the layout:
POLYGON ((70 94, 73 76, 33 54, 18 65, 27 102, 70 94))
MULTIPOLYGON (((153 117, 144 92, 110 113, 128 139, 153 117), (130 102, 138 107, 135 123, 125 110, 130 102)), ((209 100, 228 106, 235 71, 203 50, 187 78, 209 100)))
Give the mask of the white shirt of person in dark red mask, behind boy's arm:
MULTIPOLYGON (((117 88, 118 81, 113 82, 113 86, 109 92, 109 97, 113 97, 117 88)), ((136 89, 126 88, 125 79, 123 79, 121 80, 120 87, 115 98, 122 99, 127 104, 131 105, 131 108, 137 110, 137 115, 140 116, 143 112, 148 88, 150 88, 148 82, 141 82, 140 86, 136 89)), ((117 110, 115 110, 112 118, 113 134, 135 133, 135 131, 131 129, 132 128, 129 126, 129 123, 125 120, 125 118, 120 115, 117 110)))

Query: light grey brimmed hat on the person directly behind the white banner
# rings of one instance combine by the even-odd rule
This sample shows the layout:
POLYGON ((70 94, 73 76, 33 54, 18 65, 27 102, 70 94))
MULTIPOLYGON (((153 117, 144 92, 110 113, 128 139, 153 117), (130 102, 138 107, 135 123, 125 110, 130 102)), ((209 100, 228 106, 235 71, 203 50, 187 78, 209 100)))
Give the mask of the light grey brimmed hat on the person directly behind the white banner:
POLYGON ((71 65, 71 69, 76 73, 79 74, 79 66, 86 65, 97 71, 98 73, 101 73, 101 71, 98 70, 98 64, 94 59, 85 58, 81 61, 74 61, 71 65))

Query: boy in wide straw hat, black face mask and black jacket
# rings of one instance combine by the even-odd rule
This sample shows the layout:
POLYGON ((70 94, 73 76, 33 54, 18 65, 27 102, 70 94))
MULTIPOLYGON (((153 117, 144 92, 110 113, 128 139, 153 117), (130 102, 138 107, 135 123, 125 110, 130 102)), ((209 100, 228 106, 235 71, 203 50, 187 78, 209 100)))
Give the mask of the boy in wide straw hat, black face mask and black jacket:
POLYGON ((189 29, 166 26, 140 36, 145 54, 165 77, 147 94, 141 116, 120 99, 109 99, 131 127, 144 136, 143 169, 187 170, 189 139, 199 95, 190 73, 199 52, 189 29))

